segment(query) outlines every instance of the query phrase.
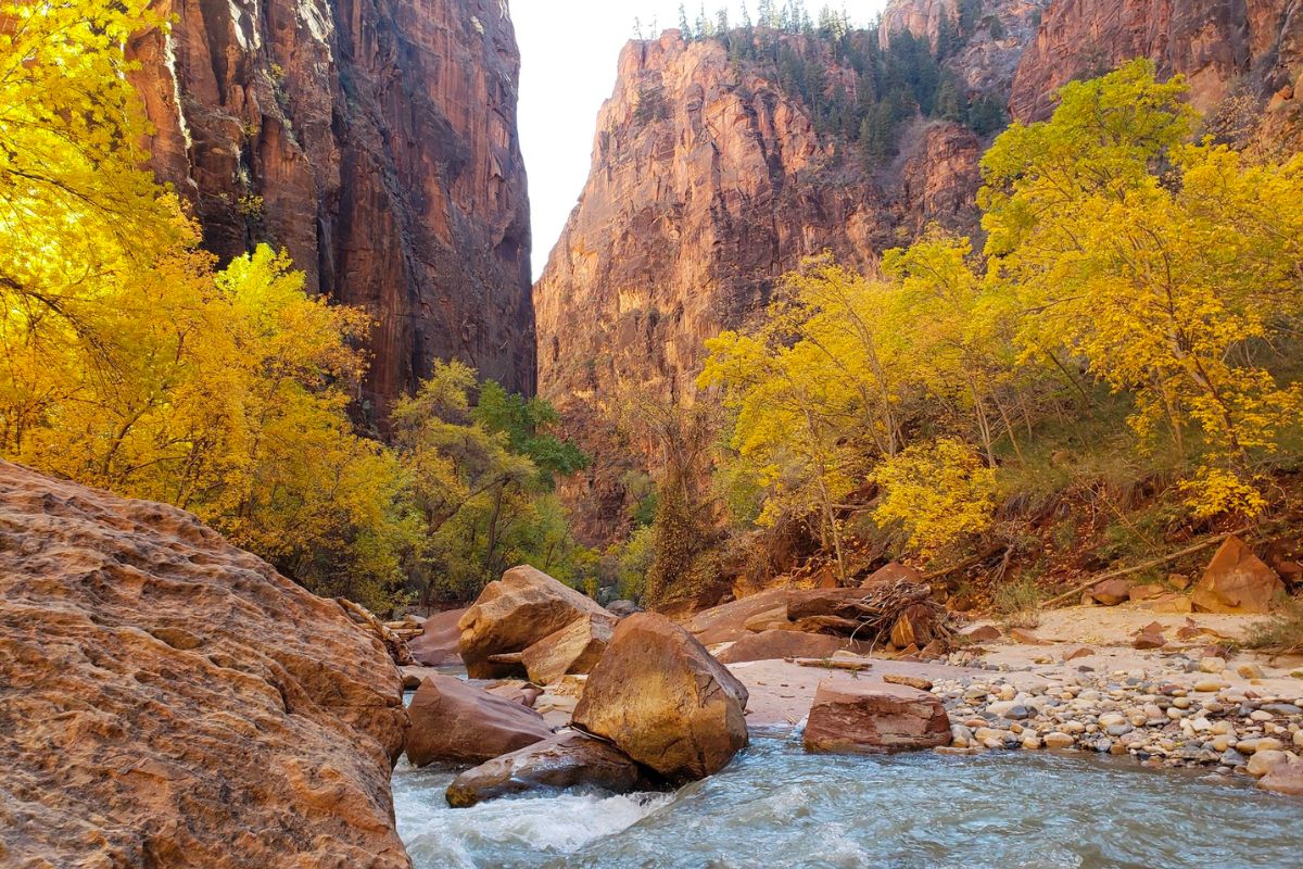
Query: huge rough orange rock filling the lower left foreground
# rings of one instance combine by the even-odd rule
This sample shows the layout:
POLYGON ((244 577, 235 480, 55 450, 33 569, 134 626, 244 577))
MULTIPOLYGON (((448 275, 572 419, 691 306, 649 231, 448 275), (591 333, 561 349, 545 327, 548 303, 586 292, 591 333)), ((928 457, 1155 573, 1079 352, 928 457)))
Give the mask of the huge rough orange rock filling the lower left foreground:
POLYGON ((337 603, 5 463, 0 562, 0 865, 410 865, 399 672, 337 603))

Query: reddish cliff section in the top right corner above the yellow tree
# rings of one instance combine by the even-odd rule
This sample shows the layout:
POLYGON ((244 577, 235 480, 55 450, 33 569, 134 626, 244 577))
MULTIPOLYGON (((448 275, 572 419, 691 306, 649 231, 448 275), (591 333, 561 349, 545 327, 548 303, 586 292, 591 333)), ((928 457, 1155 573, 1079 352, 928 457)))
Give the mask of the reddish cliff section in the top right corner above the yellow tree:
POLYGON ((1132 57, 1183 73, 1204 112, 1237 86, 1257 98, 1278 93, 1272 112, 1296 112, 1286 103, 1303 73, 1303 1, 1054 0, 1019 65, 1010 109, 1042 120, 1058 87, 1132 57))

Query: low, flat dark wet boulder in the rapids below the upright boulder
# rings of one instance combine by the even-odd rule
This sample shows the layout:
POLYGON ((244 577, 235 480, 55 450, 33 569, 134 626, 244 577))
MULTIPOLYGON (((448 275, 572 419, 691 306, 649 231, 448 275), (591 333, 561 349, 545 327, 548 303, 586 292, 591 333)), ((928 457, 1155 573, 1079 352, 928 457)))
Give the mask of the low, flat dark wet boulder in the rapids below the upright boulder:
POLYGON ((653 787, 642 767, 610 743, 585 734, 556 734, 495 757, 453 779, 446 799, 455 809, 539 790, 595 788, 629 793, 653 787))

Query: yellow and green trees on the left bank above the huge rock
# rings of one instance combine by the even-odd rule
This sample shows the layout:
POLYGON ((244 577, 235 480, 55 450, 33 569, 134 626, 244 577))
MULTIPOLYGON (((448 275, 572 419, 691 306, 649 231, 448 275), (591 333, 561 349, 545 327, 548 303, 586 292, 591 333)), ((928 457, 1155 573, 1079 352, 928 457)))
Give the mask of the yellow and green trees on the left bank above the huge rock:
POLYGON ((451 362, 394 414, 348 416, 370 327, 266 246, 219 268, 145 169, 122 46, 143 0, 0 5, 0 455, 184 507, 377 611, 592 558, 552 494, 586 459, 555 412, 451 362))

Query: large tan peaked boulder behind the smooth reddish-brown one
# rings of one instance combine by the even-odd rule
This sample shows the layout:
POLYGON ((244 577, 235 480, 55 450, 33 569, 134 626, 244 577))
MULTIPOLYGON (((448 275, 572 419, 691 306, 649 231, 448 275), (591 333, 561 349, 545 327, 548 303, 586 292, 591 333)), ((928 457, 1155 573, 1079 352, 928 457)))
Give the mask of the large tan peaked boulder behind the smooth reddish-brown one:
POLYGON ((490 582, 457 623, 461 659, 472 679, 500 679, 520 672, 515 664, 494 663, 490 655, 521 653, 543 637, 597 616, 615 621, 592 598, 529 565, 513 567, 490 582))

